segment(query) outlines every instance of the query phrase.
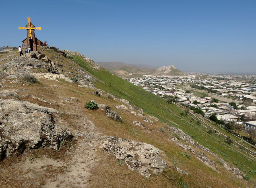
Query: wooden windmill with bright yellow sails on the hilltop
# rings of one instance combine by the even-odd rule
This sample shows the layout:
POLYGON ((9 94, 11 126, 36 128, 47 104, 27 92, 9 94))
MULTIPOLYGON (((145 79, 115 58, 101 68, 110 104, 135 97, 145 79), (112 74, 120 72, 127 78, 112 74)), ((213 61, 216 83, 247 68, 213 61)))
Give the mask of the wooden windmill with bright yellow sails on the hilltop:
POLYGON ((26 25, 26 27, 19 27, 19 29, 26 29, 27 30, 27 38, 24 39, 22 42, 24 43, 24 46, 29 46, 29 42, 28 42, 28 39, 31 37, 33 40, 34 40, 34 43, 35 45, 33 45, 33 50, 34 51, 37 51, 37 48, 36 48, 36 45, 43 45, 44 43, 40 40, 38 40, 36 37, 35 37, 35 32, 34 30, 37 29, 37 30, 41 30, 41 27, 40 28, 36 28, 31 22, 30 22, 30 18, 28 18, 28 24, 26 25), (35 46, 35 48, 34 48, 35 46))

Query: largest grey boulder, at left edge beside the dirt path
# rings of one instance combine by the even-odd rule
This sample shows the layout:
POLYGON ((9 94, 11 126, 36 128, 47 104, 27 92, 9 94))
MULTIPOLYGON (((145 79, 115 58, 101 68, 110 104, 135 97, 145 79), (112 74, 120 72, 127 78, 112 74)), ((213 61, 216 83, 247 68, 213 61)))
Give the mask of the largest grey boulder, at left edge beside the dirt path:
POLYGON ((22 153, 26 148, 51 147, 71 138, 54 124, 53 108, 14 99, 0 99, 0 159, 22 153))

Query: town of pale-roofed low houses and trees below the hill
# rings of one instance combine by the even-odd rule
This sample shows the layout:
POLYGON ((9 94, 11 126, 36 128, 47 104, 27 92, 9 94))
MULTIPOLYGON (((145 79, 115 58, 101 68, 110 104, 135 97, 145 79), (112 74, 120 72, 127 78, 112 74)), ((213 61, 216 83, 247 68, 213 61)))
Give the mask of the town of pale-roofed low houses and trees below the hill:
POLYGON ((232 132, 236 130, 238 135, 243 130, 249 135, 248 141, 256 137, 255 75, 190 73, 126 80, 169 102, 187 106, 232 132))

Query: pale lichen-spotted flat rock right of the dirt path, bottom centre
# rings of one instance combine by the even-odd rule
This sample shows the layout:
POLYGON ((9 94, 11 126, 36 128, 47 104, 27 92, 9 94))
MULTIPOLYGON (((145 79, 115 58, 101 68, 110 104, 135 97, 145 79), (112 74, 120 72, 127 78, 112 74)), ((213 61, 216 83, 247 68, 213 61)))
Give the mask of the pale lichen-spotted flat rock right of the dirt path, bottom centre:
POLYGON ((165 161, 158 155, 159 149, 147 143, 112 136, 103 140, 102 147, 118 160, 124 160, 130 170, 147 178, 150 173, 158 174, 166 168, 165 161))

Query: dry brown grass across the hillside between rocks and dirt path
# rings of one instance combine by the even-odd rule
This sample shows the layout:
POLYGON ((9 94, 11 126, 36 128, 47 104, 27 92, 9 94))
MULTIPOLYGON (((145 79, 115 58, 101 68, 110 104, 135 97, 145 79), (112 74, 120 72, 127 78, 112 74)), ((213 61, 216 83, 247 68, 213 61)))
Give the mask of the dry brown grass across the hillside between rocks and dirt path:
MULTIPOLYGON (((63 69, 70 71, 70 74, 68 75, 70 77, 75 73, 72 72, 74 70, 69 66, 79 68, 77 64, 71 60, 66 59, 61 55, 56 55, 51 50, 44 50, 42 53, 45 53, 45 55, 53 61, 65 64, 63 69)), ((33 70, 40 71, 36 69, 33 70)), ((219 174, 205 166, 205 164, 195 158, 189 151, 187 151, 187 154, 191 155, 190 159, 179 154, 183 152, 183 149, 169 141, 172 133, 168 132, 166 124, 161 122, 146 123, 143 121, 144 117, 134 116, 130 112, 117 110, 115 105, 121 105, 123 103, 115 101, 107 96, 98 97, 92 95, 91 93, 94 89, 78 87, 77 84, 69 83, 64 80, 60 80, 60 82, 48 79, 38 80, 41 84, 25 84, 24 86, 22 84, 25 82, 22 82, 22 84, 11 84, 8 82, 5 84, 5 89, 17 89, 19 90, 19 96, 30 94, 52 103, 51 105, 33 99, 32 97, 18 98, 19 100, 29 101, 31 103, 59 110, 60 113, 55 113, 54 117, 59 121, 67 122, 65 126, 69 127, 71 130, 79 130, 83 126, 83 124, 79 122, 80 116, 87 116, 103 135, 122 137, 152 144, 166 153, 166 157, 161 157, 167 164, 174 166, 173 160, 176 158, 176 160, 180 160, 180 164, 177 167, 189 173, 189 176, 183 176, 179 175, 177 171, 167 168, 162 174, 158 176, 152 174, 150 179, 147 180, 139 173, 128 170, 127 165, 118 166, 116 164, 117 160, 112 154, 102 153, 102 151, 99 150, 98 158, 100 158, 100 161, 91 171, 92 176, 88 181, 88 187, 180 187, 178 185, 179 182, 186 183, 190 188, 245 187, 245 185, 247 185, 244 180, 238 180, 230 173, 228 176, 223 176, 223 174, 227 174, 227 172, 221 165, 219 165, 218 168, 218 171, 220 172, 219 174), (52 84, 57 85, 58 88, 51 87, 52 84), (79 102, 74 102, 75 105, 71 105, 70 103, 65 103, 63 97, 76 97, 79 99, 79 102), (95 100, 96 103, 103 103, 112 107, 111 110, 122 116, 123 122, 116 122, 115 120, 106 117, 105 111, 99 109, 93 111, 86 109, 84 104, 89 100, 95 100), (75 114, 68 114, 68 112, 75 114), (146 126, 146 129, 133 124, 133 121, 140 121, 146 126), (162 131, 160 131, 160 128, 163 128, 161 129, 162 131)), ((0 161, 0 169, 2 172, 0 173, 0 187, 44 187, 47 182, 55 181, 56 175, 61 175, 66 172, 66 166, 54 167, 51 165, 44 165, 34 169, 24 169, 21 168, 21 165, 31 157, 34 159, 52 158, 61 162, 69 162, 70 156, 64 156, 63 153, 66 150, 70 151, 70 144, 71 143, 67 143, 66 141, 60 151, 53 151, 47 148, 27 150, 18 157, 0 161)), ((74 145, 75 143, 72 144, 74 145)), ((210 160, 216 161, 216 158, 211 154, 205 154, 210 160)), ((32 163, 35 162, 32 161, 32 163)))

